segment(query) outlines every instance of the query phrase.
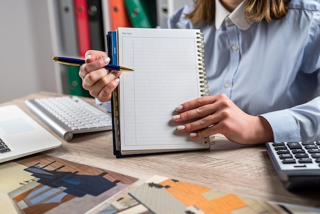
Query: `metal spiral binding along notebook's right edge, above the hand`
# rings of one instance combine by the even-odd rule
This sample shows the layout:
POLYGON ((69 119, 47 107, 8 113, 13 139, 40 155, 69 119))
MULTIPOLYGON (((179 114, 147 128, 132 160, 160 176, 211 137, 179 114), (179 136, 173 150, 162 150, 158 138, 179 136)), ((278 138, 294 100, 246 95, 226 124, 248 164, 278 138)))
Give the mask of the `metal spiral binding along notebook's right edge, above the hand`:
POLYGON ((207 79, 207 72, 205 71, 205 65, 204 65, 204 41, 203 41, 203 33, 197 32, 197 48, 198 48, 198 65, 199 65, 199 74, 200 74, 200 87, 201 96, 209 96, 209 86, 208 86, 208 79, 207 79))

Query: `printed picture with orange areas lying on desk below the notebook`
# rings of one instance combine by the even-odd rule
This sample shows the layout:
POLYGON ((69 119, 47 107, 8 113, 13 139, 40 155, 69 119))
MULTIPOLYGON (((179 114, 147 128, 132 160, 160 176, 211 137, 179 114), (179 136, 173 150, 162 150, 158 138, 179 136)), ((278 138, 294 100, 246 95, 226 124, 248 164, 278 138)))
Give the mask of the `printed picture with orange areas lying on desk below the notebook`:
POLYGON ((99 214, 319 213, 320 209, 245 198, 184 181, 153 176, 99 214))

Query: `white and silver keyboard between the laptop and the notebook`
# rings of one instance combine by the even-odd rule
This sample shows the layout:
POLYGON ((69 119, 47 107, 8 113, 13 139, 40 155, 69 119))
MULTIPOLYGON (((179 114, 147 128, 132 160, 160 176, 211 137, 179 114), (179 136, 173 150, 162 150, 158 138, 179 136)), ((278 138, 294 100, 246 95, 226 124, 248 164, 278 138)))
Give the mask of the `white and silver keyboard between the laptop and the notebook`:
POLYGON ((78 96, 26 100, 28 108, 65 140, 73 134, 112 130, 112 118, 78 96))

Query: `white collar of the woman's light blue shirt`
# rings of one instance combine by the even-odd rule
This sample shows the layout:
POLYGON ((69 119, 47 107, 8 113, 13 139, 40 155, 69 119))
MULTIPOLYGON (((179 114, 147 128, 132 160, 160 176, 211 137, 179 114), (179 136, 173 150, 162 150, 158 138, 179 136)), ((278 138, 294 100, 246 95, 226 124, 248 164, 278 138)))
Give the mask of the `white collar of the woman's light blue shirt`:
POLYGON ((243 1, 232 13, 227 11, 219 0, 216 1, 216 17, 215 17, 215 26, 216 29, 219 29, 222 23, 225 21, 226 26, 235 24, 239 29, 246 30, 251 25, 252 22, 248 22, 244 16, 244 3, 243 1))

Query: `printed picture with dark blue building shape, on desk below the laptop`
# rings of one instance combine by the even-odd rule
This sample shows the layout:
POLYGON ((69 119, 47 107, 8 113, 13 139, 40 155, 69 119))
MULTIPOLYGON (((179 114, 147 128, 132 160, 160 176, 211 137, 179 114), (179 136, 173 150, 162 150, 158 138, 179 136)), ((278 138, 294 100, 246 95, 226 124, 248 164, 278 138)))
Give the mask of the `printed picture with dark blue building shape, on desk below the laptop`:
POLYGON ((0 164, 6 213, 85 213, 138 179, 51 156, 0 164))

